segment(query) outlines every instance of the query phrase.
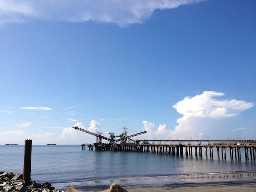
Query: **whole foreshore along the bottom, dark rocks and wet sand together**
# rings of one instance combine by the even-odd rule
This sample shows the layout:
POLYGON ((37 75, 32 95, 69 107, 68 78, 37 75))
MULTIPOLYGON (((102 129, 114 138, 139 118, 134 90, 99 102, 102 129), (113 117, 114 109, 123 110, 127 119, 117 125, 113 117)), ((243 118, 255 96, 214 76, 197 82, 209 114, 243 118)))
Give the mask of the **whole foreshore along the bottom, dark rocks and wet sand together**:
MULTIPOLYGON (((184 176, 163 176, 152 178, 132 178, 132 179, 110 179, 103 183, 100 180, 86 182, 69 183, 72 185, 59 188, 58 183, 36 183, 31 181, 30 184, 25 184, 22 181, 22 174, 13 174, 8 172, 0 172, 1 182, 0 190, 43 190, 46 188, 49 192, 63 192, 67 189, 70 192, 113 192, 110 190, 112 185, 119 185, 122 189, 116 192, 256 192, 256 172, 246 173, 230 173, 230 174, 215 174, 215 175, 184 175, 184 176), (145 180, 146 179, 146 180, 145 180), (71 190, 68 187, 72 187, 71 190)), ((67 183, 63 183, 67 184, 67 183)))

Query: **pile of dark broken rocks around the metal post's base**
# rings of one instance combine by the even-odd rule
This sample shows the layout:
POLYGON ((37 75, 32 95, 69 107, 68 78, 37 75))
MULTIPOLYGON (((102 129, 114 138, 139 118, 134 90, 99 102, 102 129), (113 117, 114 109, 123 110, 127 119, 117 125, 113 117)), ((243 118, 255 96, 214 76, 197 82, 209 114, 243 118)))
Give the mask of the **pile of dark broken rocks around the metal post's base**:
POLYGON ((25 183, 23 174, 0 172, 0 192, 62 192, 55 189, 52 183, 25 183))

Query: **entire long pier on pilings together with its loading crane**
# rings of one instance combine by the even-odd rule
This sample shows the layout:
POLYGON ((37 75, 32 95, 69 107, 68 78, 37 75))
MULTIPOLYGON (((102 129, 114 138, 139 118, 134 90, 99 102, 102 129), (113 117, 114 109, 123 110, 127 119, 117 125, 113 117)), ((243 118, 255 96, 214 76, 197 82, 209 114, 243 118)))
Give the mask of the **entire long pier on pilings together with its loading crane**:
MULTIPOLYGON (((94 135, 97 137, 94 143, 95 150, 112 150, 127 152, 146 152, 157 154, 169 154, 176 156, 203 156, 213 158, 213 148, 217 150, 218 158, 226 159, 226 149, 230 151, 230 159, 241 159, 241 149, 244 151, 245 159, 256 159, 256 142, 255 140, 134 140, 132 137, 145 134, 147 131, 139 132, 128 136, 127 129, 120 135, 110 132, 110 138, 103 136, 100 127, 97 125, 97 133, 74 126, 74 129, 94 135), (118 138, 119 137, 119 138, 118 138), (118 139, 117 139, 118 138, 118 139), (103 143, 102 140, 109 143, 103 143)), ((85 150, 82 144, 82 150, 85 150)), ((89 150, 93 150, 92 144, 87 144, 89 150)))

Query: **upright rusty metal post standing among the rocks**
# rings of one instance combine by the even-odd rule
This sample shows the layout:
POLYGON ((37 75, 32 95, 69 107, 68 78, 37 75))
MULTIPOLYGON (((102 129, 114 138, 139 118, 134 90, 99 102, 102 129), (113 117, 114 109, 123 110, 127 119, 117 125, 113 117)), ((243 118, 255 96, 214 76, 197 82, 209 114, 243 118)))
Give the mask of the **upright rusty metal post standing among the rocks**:
POLYGON ((31 150, 32 140, 25 140, 24 147, 24 166, 23 166, 23 181, 27 183, 31 182, 31 150))

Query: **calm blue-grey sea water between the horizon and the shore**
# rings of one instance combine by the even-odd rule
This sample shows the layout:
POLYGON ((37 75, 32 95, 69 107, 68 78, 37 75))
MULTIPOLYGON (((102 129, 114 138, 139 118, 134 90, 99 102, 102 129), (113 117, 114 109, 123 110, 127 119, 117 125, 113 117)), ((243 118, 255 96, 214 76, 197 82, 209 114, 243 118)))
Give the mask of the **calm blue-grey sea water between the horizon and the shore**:
MULTIPOLYGON (((203 151, 204 153, 204 151, 203 151)), ((74 186, 77 189, 97 188, 118 183, 121 186, 159 183, 203 182, 202 178, 241 173, 256 176, 256 161, 218 158, 213 148, 213 158, 175 156, 145 152, 112 152, 82 150, 81 145, 32 145, 31 180, 50 182, 56 188, 74 186)), ((0 171, 23 173, 24 145, 0 145, 0 171)), ((223 177, 222 177, 223 179, 223 177)), ((241 178, 240 178, 241 179, 241 178)), ((256 179, 243 178, 243 179, 256 179)))

